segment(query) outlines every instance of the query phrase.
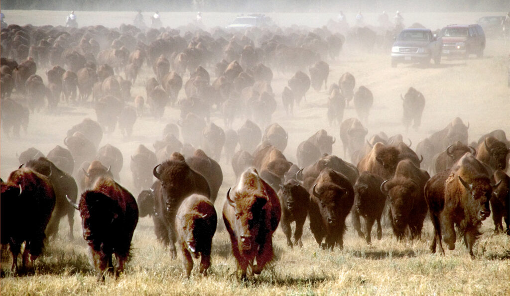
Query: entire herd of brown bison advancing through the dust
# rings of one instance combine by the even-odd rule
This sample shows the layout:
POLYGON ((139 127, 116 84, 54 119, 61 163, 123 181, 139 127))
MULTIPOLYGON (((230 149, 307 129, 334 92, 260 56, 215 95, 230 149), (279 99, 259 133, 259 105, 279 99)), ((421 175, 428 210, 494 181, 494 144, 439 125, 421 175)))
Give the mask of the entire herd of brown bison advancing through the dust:
MULTIPOLYGON (((144 32, 132 25, 2 30, 4 137, 18 138, 21 129, 26 134, 36 124, 29 121, 33 114, 53 116, 62 106, 90 108, 96 115, 70 126, 47 155, 36 148, 19 151, 19 168, 2 180, 1 238, 10 247, 13 272, 20 271, 22 244, 24 269, 41 255, 45 238, 57 235, 65 216, 73 239, 75 209, 100 280, 124 270, 138 219, 147 215, 172 259, 181 252, 187 276, 199 256, 199 272, 207 275, 217 199, 224 200, 223 223, 242 278, 260 274, 274 259, 278 225, 289 247, 302 246, 307 217, 324 249, 343 247, 349 215, 367 244, 374 223, 377 239, 383 226, 397 239, 419 238, 428 215, 435 230, 430 251, 439 246, 441 254, 442 241, 453 250, 460 235, 474 256, 481 222, 491 212, 495 231, 510 235, 510 142, 503 130, 468 143, 469 123, 455 118, 415 149, 401 134, 368 137, 373 93, 366 86, 356 89, 349 72, 327 86, 325 61, 335 62, 349 41, 343 35, 325 27, 183 31, 144 32), (45 69, 47 79, 39 76, 45 69), (151 71, 141 87, 145 97, 132 96, 131 88, 146 78, 139 74, 151 71), (276 74, 287 84, 277 92, 271 84, 276 74), (339 129, 343 159, 333 155, 336 137, 316 126, 317 132, 297 146, 296 163, 284 153, 290 136, 273 114, 282 108, 292 115, 310 87, 326 90, 324 115, 339 129), (349 105, 357 118, 343 118, 349 105), (123 153, 100 146, 109 138, 104 136, 118 128, 132 141, 137 120, 161 121, 168 109, 179 110, 179 117, 164 127, 154 151, 145 143, 129 152, 132 179, 120 180, 123 153), (230 170, 221 159, 232 165, 236 182, 218 197, 223 173, 230 170), (121 181, 140 192, 137 200, 121 181)), ((418 129, 425 97, 413 87, 400 97, 404 129, 418 129)))

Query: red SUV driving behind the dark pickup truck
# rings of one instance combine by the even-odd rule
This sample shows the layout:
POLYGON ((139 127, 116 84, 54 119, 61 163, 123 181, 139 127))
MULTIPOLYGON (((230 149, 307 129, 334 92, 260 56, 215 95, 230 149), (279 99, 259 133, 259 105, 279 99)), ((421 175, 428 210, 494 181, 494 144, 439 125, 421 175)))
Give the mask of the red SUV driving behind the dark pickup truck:
POLYGON ((479 24, 451 24, 441 30, 443 56, 483 57, 485 34, 479 24))

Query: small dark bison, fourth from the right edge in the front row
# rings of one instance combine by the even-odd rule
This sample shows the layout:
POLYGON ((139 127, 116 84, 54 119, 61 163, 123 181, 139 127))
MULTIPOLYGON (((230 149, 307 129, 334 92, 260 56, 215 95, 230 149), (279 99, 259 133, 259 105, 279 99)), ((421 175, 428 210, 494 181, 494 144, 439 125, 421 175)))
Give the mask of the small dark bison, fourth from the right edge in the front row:
POLYGON ((365 236, 367 244, 371 242, 374 222, 377 222, 377 239, 382 237, 381 215, 386 201, 385 195, 380 191, 382 181, 377 175, 363 172, 353 186, 352 226, 360 236, 365 236), (361 230, 360 217, 365 220, 365 233, 361 230))

